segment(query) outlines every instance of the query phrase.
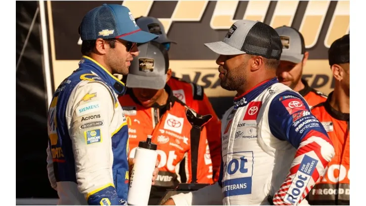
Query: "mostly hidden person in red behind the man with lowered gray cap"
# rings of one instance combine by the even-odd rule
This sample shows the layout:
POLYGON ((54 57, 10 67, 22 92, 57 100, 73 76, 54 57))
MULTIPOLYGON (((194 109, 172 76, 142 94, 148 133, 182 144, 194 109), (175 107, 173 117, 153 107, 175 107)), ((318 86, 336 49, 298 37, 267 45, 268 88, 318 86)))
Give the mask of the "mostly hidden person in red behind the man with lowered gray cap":
MULTIPOLYGON (((176 42, 168 39, 162 23, 154 17, 141 16, 136 18, 136 23, 142 31, 156 34, 159 37, 152 40, 164 45, 167 51, 171 48, 171 43, 176 42)), ((177 77, 171 77, 167 82, 174 96, 201 115, 211 114, 213 118, 205 125, 210 146, 210 154, 213 160, 214 181, 219 178, 219 168, 221 161, 221 121, 212 108, 212 105, 204 93, 204 88, 200 85, 185 82, 177 77)))

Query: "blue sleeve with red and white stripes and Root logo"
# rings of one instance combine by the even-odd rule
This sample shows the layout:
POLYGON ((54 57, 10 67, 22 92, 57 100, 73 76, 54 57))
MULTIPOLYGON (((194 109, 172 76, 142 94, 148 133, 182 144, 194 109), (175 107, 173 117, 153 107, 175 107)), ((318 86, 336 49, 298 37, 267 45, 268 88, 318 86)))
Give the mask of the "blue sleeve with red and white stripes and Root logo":
POLYGON ((275 193, 274 205, 298 205, 320 181, 334 148, 305 100, 293 91, 277 95, 269 108, 272 134, 297 148, 286 179, 275 193))

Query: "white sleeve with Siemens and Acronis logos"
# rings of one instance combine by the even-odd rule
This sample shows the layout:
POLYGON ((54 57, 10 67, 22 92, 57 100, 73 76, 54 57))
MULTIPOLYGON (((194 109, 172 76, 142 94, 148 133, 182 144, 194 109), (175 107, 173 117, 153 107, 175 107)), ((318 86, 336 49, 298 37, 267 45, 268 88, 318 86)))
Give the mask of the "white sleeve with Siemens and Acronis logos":
POLYGON ((111 174, 113 131, 109 125, 114 112, 112 94, 99 82, 88 82, 74 92, 66 108, 66 120, 70 125, 78 190, 88 205, 120 205, 121 198, 117 196, 111 174), (82 128, 93 121, 103 124, 82 128))

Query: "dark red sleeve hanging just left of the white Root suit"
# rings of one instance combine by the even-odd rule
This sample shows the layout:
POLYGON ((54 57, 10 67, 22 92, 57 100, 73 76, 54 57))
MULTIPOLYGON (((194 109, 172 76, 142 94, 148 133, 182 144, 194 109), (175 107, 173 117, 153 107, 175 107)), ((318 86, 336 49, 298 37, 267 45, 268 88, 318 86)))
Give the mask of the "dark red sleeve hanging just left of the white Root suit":
MULTIPOLYGON (((198 101, 198 109, 199 111, 197 112, 201 115, 212 115, 212 119, 207 122, 205 127, 207 130, 207 141, 210 147, 213 175, 215 176, 216 172, 219 172, 221 164, 221 121, 205 94, 203 94, 203 100, 198 101)), ((217 179, 214 181, 217 181, 217 179)))

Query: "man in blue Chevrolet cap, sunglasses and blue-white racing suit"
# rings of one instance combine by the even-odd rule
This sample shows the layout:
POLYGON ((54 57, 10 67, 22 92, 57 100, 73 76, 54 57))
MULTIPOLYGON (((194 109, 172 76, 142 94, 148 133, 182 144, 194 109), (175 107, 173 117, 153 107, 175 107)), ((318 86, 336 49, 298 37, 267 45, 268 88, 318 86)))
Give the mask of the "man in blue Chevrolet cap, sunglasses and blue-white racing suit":
MULTIPOLYGON (((136 43, 157 35, 141 31, 130 10, 103 4, 83 18, 79 68, 55 91, 48 111, 47 171, 58 205, 127 205, 128 128, 117 95, 138 55, 136 43)), ((157 166, 157 165, 156 165, 157 166)), ((157 168, 152 182, 157 175, 157 168)))

